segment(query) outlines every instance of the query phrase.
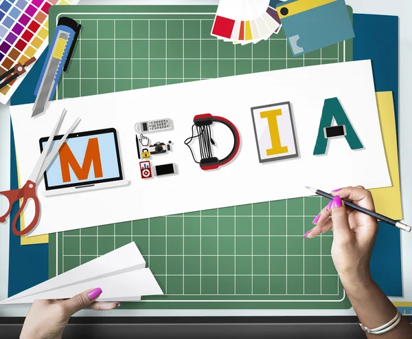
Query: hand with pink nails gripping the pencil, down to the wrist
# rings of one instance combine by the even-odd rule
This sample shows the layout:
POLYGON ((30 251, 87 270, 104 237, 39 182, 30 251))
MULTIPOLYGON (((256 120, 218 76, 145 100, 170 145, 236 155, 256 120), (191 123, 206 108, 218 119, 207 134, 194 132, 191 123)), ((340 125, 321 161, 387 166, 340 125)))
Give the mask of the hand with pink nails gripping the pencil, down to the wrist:
POLYGON ((369 190, 362 186, 334 190, 334 199, 314 219, 316 226, 308 234, 333 230, 332 259, 345 287, 371 281, 369 263, 378 233, 378 221, 365 213, 345 208, 342 199, 375 210, 369 190))

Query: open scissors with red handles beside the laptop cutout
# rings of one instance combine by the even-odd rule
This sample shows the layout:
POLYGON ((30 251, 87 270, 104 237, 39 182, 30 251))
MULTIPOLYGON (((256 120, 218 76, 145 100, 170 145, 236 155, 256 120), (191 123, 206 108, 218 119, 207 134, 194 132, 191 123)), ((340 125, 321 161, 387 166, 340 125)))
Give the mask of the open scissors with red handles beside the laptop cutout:
POLYGON ((77 125, 80 122, 80 119, 77 118, 75 122, 71 125, 69 130, 63 135, 63 137, 56 142, 55 146, 52 146, 54 137, 56 136, 56 133, 60 129, 60 126, 65 118, 67 110, 63 109, 62 114, 56 123, 56 126, 54 127, 52 131, 52 135, 49 136, 49 139, 47 140, 47 143, 45 145, 45 148, 43 149, 43 152, 41 153, 40 157, 37 160, 36 166, 34 166, 33 172, 30 175, 29 179, 25 183, 25 185, 22 188, 18 188, 16 190, 5 190, 4 192, 0 192, 0 195, 3 195, 6 197, 9 201, 9 208, 8 211, 5 212, 5 215, 0 217, 0 223, 5 222, 6 217, 10 215, 10 212, 12 210, 13 204, 18 201, 19 199, 23 199, 23 202, 21 204, 21 207, 19 211, 16 213, 13 219, 13 233, 16 234, 16 236, 20 237, 21 235, 27 234, 30 232, 34 226, 37 225, 38 219, 40 218, 40 202, 38 201, 37 193, 36 193, 36 186, 41 182, 41 179, 43 179, 43 173, 47 170, 49 167, 49 164, 51 164, 56 157, 60 147, 63 145, 63 143, 66 141, 67 136, 76 129, 77 125), (23 213, 23 210, 27 204, 27 201, 32 199, 34 201, 34 218, 32 220, 32 223, 30 223, 29 226, 27 226, 24 230, 17 230, 16 228, 16 222, 19 219, 19 216, 23 213))

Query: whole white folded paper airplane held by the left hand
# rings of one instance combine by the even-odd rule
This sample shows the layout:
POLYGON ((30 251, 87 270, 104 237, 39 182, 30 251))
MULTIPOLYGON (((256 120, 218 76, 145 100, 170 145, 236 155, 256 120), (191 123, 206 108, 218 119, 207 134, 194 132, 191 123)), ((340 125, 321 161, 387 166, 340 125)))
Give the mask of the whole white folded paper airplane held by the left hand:
POLYGON ((0 304, 26 304, 37 299, 66 299, 96 287, 103 291, 99 301, 139 301, 141 296, 163 294, 155 276, 145 267, 146 261, 136 244, 129 243, 26 289, 0 304))

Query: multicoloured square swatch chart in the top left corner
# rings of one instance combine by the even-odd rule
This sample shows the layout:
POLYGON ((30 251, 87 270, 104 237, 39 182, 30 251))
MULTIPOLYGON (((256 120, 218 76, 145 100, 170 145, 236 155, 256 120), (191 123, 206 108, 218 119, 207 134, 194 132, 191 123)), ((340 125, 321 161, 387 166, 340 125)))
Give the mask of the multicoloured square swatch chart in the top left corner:
MULTIPOLYGON (((49 8, 76 5, 79 0, 0 0, 0 75, 14 65, 38 59, 48 45, 49 8)), ((27 69, 29 71, 29 69, 27 69)), ((19 87, 27 72, 0 89, 5 104, 19 87)), ((7 78, 6 78, 7 80, 7 78)))

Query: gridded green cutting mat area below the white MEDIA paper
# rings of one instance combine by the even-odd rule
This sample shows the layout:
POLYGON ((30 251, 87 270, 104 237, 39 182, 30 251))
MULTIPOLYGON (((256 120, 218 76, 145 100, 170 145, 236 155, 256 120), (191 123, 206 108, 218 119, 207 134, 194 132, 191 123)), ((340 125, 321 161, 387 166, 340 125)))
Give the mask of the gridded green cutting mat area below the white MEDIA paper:
POLYGON ((322 200, 287 199, 62 232, 58 270, 135 241, 168 296, 339 296, 332 235, 302 237, 322 200))

